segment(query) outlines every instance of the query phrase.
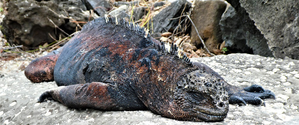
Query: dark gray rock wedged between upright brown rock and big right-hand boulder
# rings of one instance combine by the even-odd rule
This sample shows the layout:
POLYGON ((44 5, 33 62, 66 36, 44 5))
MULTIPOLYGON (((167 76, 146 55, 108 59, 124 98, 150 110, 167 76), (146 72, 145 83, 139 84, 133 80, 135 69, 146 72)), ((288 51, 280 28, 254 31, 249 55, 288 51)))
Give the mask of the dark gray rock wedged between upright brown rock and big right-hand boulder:
POLYGON ((232 52, 253 54, 247 45, 246 28, 239 19, 239 14, 231 4, 227 5, 219 22, 222 40, 225 40, 225 46, 232 52))

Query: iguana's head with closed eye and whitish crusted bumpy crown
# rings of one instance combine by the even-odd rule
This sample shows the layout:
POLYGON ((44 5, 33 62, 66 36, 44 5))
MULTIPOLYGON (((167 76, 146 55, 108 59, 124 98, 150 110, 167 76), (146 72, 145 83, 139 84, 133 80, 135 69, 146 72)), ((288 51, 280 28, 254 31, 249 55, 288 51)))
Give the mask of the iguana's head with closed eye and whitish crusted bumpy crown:
POLYGON ((228 113, 228 94, 224 79, 202 63, 192 63, 199 70, 187 73, 173 93, 170 111, 175 119, 187 121, 221 121, 228 113))

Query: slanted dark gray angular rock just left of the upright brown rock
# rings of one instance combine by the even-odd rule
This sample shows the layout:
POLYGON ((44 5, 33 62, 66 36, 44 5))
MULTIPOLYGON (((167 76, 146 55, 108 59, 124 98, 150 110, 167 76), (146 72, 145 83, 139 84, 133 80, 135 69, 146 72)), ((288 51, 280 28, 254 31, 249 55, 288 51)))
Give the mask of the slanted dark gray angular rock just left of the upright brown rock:
MULTIPOLYGON (((170 6, 165 7, 163 10, 161 10, 158 14, 156 14, 153 18, 153 29, 150 28, 149 30, 153 30, 156 33, 162 33, 162 32, 173 32, 173 30, 178 26, 179 19, 173 19, 168 20, 171 18, 176 18, 181 16, 181 13, 185 7, 184 12, 188 12, 191 7, 191 3, 189 3, 186 0, 176 0, 173 1, 170 6)), ((183 20, 184 17, 181 18, 183 20)), ((181 26, 183 27, 183 26, 181 26)), ((180 29, 179 29, 180 31, 180 29)), ((150 31, 151 32, 151 31, 150 31)))

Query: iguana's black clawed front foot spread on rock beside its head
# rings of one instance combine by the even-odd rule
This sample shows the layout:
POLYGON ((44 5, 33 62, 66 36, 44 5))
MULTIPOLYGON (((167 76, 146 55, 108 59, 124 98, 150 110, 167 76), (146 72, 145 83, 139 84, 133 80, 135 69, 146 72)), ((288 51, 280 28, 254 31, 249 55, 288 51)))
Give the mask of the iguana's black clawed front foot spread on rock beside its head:
POLYGON ((270 90, 264 90, 260 85, 251 85, 245 88, 239 88, 233 85, 225 85, 225 90, 228 92, 228 102, 234 103, 247 103, 253 105, 265 105, 263 99, 275 99, 275 94, 270 90))

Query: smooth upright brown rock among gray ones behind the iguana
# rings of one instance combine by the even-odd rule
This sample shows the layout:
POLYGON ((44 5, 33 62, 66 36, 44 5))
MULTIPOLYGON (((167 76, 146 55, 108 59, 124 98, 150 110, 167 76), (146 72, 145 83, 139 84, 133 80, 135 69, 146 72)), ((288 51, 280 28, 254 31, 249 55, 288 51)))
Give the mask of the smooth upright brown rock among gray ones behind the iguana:
MULTIPOLYGON (((213 49, 217 49, 219 43, 223 42, 219 21, 226 6, 227 4, 220 0, 196 0, 193 7, 191 19, 194 22, 199 35, 202 37, 202 40, 204 40, 205 45, 211 52, 213 52, 213 49)), ((196 46, 201 44, 193 26, 191 37, 191 43, 196 46)))

